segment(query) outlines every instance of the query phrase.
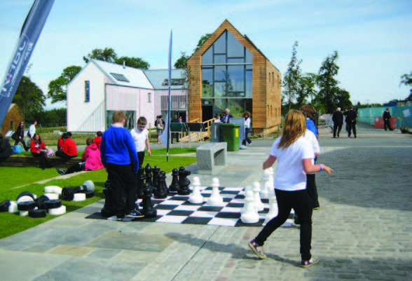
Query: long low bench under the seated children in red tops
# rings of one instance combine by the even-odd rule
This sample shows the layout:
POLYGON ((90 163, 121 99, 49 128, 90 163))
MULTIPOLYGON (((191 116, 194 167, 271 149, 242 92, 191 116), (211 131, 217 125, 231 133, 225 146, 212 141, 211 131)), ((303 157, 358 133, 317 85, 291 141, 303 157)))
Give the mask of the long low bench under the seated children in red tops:
MULTIPOLYGON (((60 167, 67 169, 72 165, 75 165, 79 162, 83 162, 81 157, 75 157, 71 159, 63 159, 60 157, 49 157, 48 158, 55 167, 60 167)), ((36 158, 33 156, 20 156, 13 155, 4 160, 1 160, 0 167, 40 167, 41 158, 36 158)))

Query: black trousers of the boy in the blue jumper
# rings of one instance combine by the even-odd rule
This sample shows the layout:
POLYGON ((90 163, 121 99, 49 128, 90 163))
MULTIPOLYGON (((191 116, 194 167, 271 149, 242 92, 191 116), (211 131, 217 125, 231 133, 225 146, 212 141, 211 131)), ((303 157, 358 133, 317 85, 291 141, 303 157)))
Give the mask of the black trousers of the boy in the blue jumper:
POLYGON ((107 163, 107 179, 111 181, 111 200, 116 217, 123 218, 125 214, 130 214, 137 209, 137 177, 132 164, 116 165, 107 163), (123 191, 126 195, 126 202, 123 199, 123 191))

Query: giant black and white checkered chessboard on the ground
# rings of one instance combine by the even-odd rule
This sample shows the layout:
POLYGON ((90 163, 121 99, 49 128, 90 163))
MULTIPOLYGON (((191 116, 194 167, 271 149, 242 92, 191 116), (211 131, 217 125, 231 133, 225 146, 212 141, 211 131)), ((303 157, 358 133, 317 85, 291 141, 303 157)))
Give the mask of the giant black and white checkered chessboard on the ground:
MULTIPOLYGON (((259 222, 256 224, 244 224, 240 220, 240 210, 245 203, 245 191, 242 187, 219 187, 219 193, 224 202, 219 206, 207 205, 207 199, 212 194, 212 187, 200 187, 200 193, 205 198, 202 204, 192 204, 188 201, 189 196, 179 196, 177 192, 171 192, 165 199, 152 198, 153 206, 157 210, 157 217, 152 219, 132 219, 126 221, 153 221, 174 224, 209 224, 214 226, 262 226, 266 214, 269 212, 269 200, 261 199, 264 210, 259 212, 259 222)), ((138 200, 140 203, 142 200, 138 200)), ((293 212, 293 210, 292 210, 293 212)), ((293 224, 291 213, 289 219, 283 226, 288 227, 293 224)), ((88 218, 98 219, 99 212, 92 214, 88 218)), ((109 220, 115 220, 110 217, 109 220)))

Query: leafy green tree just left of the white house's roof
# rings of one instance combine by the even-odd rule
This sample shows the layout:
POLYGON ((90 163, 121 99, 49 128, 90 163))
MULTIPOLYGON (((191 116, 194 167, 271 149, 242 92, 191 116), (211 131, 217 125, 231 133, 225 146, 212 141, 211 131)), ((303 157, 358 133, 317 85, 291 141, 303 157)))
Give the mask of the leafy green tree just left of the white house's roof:
POLYGON ((71 65, 63 69, 59 78, 48 83, 48 95, 52 98, 52 104, 67 100, 66 86, 81 71, 81 67, 71 65))

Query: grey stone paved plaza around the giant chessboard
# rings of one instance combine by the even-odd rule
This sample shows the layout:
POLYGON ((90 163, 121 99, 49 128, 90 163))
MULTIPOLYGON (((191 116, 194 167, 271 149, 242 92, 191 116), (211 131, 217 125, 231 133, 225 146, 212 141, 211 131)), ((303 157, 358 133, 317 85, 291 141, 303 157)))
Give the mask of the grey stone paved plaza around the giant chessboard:
MULTIPOLYGON (((412 280, 412 135, 358 124, 357 139, 331 136, 320 130, 318 163, 335 172, 316 175, 315 266, 299 266, 298 226, 275 231, 259 260, 247 242, 261 227, 85 219, 99 201, 0 240, 0 280, 412 280)), ((221 186, 261 181, 272 144, 228 152, 213 177, 221 186)), ((211 184, 195 164, 186 169, 211 184)))

